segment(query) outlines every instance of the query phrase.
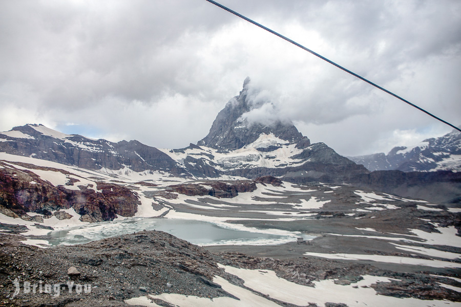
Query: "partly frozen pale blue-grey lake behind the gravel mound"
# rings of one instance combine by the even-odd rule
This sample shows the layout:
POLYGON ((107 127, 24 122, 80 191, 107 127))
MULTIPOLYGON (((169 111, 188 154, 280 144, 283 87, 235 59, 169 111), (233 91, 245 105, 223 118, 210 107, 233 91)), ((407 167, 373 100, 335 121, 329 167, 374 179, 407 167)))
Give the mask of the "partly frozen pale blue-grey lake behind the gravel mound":
POLYGON ((141 230, 161 230, 200 246, 206 245, 277 245, 296 241, 297 237, 314 236, 280 230, 258 230, 226 223, 166 218, 128 218, 123 221, 94 223, 56 229, 48 234, 51 245, 84 244, 111 236, 141 230))

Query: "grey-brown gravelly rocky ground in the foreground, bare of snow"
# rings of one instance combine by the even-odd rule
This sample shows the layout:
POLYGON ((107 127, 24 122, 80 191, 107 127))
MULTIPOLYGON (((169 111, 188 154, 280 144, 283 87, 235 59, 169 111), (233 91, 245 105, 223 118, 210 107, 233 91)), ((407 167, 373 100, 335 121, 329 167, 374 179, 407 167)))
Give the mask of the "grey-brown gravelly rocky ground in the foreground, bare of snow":
MULTIPOLYGON (((242 280, 225 273, 218 263, 274 270, 278 276, 306 286, 312 286, 313 280, 331 278, 350 284, 365 274, 393 277, 401 281, 374 284, 372 288, 396 297, 461 301, 459 293, 437 284, 451 282, 456 286, 456 281, 441 281, 423 273, 397 273, 371 265, 306 257, 274 259, 239 252, 211 253, 160 231, 40 249, 18 242, 25 239, 17 235, 20 228, 11 227, 11 234, 0 234, 0 304, 5 306, 123 306, 126 299, 160 293, 231 296, 213 282, 213 277, 222 276, 239 286, 243 286, 242 280), (19 283, 19 292, 13 298, 15 281, 19 283), (43 287, 49 284, 50 293, 40 294, 39 288, 36 293, 25 293, 24 281, 38 287, 40 283, 43 287), (52 288, 54 284, 59 289, 52 288)), ((168 306, 161 301, 156 303, 168 306)))

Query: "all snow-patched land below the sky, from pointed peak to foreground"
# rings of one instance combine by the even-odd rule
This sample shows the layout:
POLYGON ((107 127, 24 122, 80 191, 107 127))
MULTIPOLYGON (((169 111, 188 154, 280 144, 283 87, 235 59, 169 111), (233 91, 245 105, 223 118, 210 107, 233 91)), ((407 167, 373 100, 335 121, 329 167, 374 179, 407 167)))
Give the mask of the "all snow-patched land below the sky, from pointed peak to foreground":
POLYGON ((0 133, 1 302, 458 305, 459 136, 395 151, 436 166, 370 171, 292 123, 246 122, 249 82, 182 149, 36 124, 0 133), (16 276, 94 288, 13 297, 16 276))

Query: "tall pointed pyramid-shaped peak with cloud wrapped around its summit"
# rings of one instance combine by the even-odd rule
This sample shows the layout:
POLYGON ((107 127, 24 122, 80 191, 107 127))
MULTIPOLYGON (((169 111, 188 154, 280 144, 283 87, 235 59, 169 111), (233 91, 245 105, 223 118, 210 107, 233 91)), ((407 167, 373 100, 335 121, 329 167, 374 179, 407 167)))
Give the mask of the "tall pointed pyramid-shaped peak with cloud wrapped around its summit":
POLYGON ((368 173, 324 143, 311 144, 291 122, 249 123, 245 114, 270 103, 254 103, 249 83, 246 78, 239 96, 227 102, 197 145, 164 152, 197 177, 271 175, 295 182, 344 182, 368 173))

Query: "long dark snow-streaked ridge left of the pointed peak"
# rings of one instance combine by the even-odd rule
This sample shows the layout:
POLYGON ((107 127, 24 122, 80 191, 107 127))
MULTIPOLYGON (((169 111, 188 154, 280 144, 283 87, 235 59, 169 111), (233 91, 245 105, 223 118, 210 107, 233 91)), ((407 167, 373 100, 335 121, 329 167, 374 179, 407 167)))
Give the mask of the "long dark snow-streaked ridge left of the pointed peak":
POLYGON ((28 124, 0 133, 0 151, 65 165, 99 170, 163 171, 190 174, 168 155, 138 141, 118 143, 66 135, 44 125, 28 124))

